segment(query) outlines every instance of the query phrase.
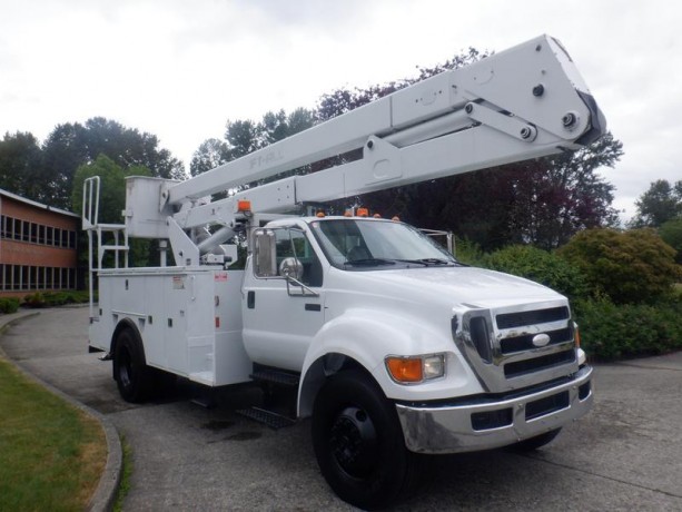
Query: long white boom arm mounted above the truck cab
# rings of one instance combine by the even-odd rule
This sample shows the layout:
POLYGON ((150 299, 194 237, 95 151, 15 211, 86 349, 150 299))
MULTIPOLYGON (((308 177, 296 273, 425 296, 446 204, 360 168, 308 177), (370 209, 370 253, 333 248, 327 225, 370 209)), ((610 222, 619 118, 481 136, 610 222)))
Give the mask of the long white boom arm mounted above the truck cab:
MULTIPOLYGON (((196 263, 199 252, 208 252, 231 236, 240 199, 249 199, 258 213, 283 213, 304 203, 577 149, 604 131, 605 119, 573 61, 555 39, 542 36, 186 181, 165 184, 159 187, 157 220, 169 226, 167 236, 174 247, 184 245, 186 249, 198 244, 185 236, 185 230, 207 224, 225 226, 204 242, 200 250, 197 247, 191 257, 184 257, 196 263), (199 201, 207 195, 360 147, 360 159, 254 187, 219 201, 199 201)), ((129 201, 128 217, 135 216, 135 208, 129 201)), ((130 235, 135 236, 134 232, 130 235)))

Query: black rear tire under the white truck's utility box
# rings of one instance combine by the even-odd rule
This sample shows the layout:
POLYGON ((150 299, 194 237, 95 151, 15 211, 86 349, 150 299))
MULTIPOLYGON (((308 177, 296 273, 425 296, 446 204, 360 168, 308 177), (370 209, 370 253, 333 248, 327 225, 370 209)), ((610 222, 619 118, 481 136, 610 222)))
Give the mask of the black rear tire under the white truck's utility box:
POLYGON ((154 375, 147 366, 142 344, 130 328, 122 329, 117 336, 113 378, 126 402, 140 403, 149 397, 154 375))

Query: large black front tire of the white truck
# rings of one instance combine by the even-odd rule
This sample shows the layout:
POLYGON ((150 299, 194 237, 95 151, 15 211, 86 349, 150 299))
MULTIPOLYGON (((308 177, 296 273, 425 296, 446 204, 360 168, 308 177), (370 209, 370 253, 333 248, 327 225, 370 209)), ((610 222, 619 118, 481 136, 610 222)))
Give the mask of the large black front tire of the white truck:
POLYGON ((395 406, 359 371, 333 375, 319 391, 313 446, 329 486, 360 509, 388 506, 417 482, 417 455, 405 447, 395 406))

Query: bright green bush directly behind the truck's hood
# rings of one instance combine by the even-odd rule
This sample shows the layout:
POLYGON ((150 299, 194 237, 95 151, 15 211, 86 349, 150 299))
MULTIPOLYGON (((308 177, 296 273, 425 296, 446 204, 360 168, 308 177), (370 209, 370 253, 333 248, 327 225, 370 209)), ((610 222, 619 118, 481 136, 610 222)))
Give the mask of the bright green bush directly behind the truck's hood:
POLYGON ((483 265, 541 283, 572 299, 584 297, 587 292, 585 279, 577 267, 536 247, 508 246, 486 255, 483 265))

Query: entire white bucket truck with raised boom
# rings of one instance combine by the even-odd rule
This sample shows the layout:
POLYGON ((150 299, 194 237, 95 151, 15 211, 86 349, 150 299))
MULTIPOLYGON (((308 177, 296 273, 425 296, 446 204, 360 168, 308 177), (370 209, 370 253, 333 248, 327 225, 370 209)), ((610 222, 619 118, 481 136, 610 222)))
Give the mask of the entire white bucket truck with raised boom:
POLYGON ((564 296, 462 265, 398 220, 291 213, 573 150, 604 131, 569 55, 543 36, 186 181, 128 178, 121 225, 97 221, 90 179, 90 347, 113 360, 134 402, 168 375, 293 390, 288 421, 312 416, 324 476, 362 508, 408 490, 418 454, 541 446, 593 400, 564 296), (161 266, 128 267, 130 237, 169 243, 175 265, 162 253, 161 266), (244 269, 231 268, 238 239, 244 269))

